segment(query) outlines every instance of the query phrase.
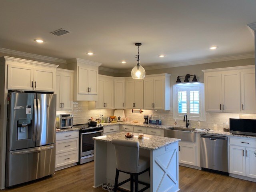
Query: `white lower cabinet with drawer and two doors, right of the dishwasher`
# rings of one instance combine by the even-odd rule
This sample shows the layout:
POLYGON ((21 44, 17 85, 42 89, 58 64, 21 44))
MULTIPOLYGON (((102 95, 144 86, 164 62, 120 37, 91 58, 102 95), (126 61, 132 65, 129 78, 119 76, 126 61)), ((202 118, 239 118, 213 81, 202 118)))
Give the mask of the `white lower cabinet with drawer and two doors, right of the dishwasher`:
POLYGON ((230 173, 256 178, 255 146, 256 140, 230 138, 230 173))

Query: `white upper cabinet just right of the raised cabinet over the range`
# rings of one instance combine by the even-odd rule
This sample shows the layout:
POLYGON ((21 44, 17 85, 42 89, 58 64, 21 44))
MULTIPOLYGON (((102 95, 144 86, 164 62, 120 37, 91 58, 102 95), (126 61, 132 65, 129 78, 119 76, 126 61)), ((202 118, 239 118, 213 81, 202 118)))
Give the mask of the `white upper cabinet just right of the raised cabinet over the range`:
POLYGON ((96 101, 97 109, 112 109, 114 98, 114 79, 110 76, 99 75, 99 96, 96 101))

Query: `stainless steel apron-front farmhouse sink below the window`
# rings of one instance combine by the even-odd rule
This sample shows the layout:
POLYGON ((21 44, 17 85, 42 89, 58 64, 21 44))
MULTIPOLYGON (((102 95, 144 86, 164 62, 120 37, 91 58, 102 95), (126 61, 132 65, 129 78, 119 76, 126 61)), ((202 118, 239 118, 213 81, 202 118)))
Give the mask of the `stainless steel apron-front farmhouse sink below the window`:
POLYGON ((164 130, 164 136, 181 139, 182 141, 195 142, 195 133, 192 130, 192 128, 186 127, 172 127, 164 130))

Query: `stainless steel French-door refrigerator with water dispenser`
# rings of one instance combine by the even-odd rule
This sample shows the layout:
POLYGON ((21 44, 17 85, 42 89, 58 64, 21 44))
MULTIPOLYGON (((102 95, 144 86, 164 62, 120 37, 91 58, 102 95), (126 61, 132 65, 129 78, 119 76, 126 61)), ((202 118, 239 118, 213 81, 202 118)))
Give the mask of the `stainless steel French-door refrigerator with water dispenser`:
POLYGON ((6 187, 55 172, 56 95, 8 94, 6 187))

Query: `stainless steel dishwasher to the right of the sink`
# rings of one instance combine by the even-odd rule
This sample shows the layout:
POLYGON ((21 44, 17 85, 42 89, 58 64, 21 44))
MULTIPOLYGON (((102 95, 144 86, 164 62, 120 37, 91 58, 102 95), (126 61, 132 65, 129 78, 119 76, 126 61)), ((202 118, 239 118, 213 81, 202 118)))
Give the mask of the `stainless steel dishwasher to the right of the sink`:
POLYGON ((228 138, 200 135, 201 167, 228 173, 228 138))

